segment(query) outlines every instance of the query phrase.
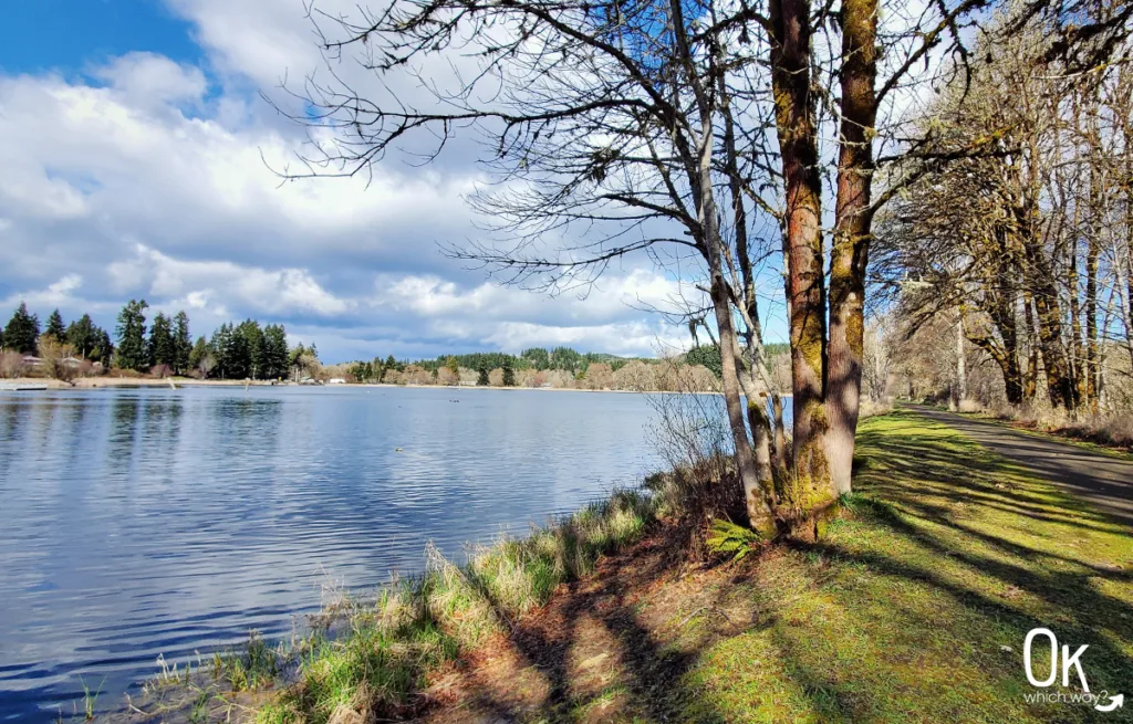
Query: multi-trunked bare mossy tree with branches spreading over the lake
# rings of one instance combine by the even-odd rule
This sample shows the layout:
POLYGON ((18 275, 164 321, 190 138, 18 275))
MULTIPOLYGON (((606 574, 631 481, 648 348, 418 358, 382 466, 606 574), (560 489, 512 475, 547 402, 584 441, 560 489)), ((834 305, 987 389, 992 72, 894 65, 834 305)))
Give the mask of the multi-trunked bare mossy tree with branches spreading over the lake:
MULTIPOLYGON (((393 0, 357 19, 315 11, 329 59, 350 49, 378 86, 357 90, 333 63, 329 81, 308 80, 293 118, 320 137, 305 167, 287 173, 368 172, 403 143, 432 160, 470 131, 488 149, 494 183, 474 206, 495 241, 453 256, 552 293, 585 290, 627 258, 691 279, 716 330, 749 520, 767 536, 812 536, 850 490, 872 217, 906 182, 871 193, 878 113, 921 64, 962 74, 961 26, 994 5, 913 12, 892 1, 897 20, 881 29, 879 0, 393 0), (949 51, 959 62, 942 60, 949 51), (404 89, 406 74, 416 88, 404 89), (836 170, 828 259, 824 123, 836 170), (770 236, 755 233, 757 216, 774 221, 770 236), (757 402, 773 389, 755 270, 768 247, 786 257, 793 357, 799 485, 784 501, 757 402)), ((1053 49, 1107 46, 1130 8, 1083 24, 1076 11, 1089 6, 1039 0, 1019 14, 1053 28, 1053 49)))

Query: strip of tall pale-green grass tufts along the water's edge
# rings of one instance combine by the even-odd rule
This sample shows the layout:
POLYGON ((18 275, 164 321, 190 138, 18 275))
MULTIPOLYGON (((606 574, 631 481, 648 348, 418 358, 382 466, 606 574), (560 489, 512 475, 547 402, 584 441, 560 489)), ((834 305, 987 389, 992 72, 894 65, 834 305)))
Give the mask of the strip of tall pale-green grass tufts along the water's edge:
POLYGON ((602 554, 638 540, 659 502, 619 492, 526 538, 501 540, 465 566, 431 550, 424 576, 395 581, 374 603, 350 602, 339 617, 346 631, 308 639, 296 681, 256 721, 324 724, 343 712, 411 714, 428 672, 509 629, 560 584, 590 572, 602 554))

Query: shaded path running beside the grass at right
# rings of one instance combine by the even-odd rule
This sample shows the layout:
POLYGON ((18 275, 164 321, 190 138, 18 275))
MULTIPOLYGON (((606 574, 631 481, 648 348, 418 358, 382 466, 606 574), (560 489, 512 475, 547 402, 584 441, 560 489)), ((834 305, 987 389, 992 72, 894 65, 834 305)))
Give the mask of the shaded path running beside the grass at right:
POLYGON ((1133 528, 1133 462, 951 412, 919 405, 909 407, 960 430, 989 450, 1089 500, 1116 523, 1133 528))

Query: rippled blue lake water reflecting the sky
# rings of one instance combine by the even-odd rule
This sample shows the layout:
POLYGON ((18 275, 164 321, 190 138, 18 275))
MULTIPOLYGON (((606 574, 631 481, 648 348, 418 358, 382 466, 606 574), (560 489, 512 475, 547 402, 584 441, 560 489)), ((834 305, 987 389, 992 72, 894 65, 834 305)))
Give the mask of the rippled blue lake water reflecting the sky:
POLYGON ((159 654, 290 634, 428 540, 462 559, 634 483, 651 417, 537 390, 0 393, 0 719, 69 717, 84 682, 120 707, 159 654))

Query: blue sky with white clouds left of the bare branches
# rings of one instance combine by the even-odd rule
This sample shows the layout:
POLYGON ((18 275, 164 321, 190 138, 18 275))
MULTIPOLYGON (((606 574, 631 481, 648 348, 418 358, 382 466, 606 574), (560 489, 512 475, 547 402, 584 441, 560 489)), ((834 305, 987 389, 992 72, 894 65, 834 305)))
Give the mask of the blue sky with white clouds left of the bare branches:
MULTIPOLYGON (((570 344, 688 344, 642 304, 676 283, 647 260, 586 299, 502 288, 445 259, 485 180, 458 147, 363 180, 280 184, 303 129, 259 97, 320 66, 300 0, 36 0, 0 24, 0 313, 186 309, 194 333, 253 317, 325 361, 570 344), (267 165, 265 165, 265 161, 267 165)), ((350 11, 353 2, 322 0, 350 11)), ((773 333, 770 336, 775 336, 773 333)))

